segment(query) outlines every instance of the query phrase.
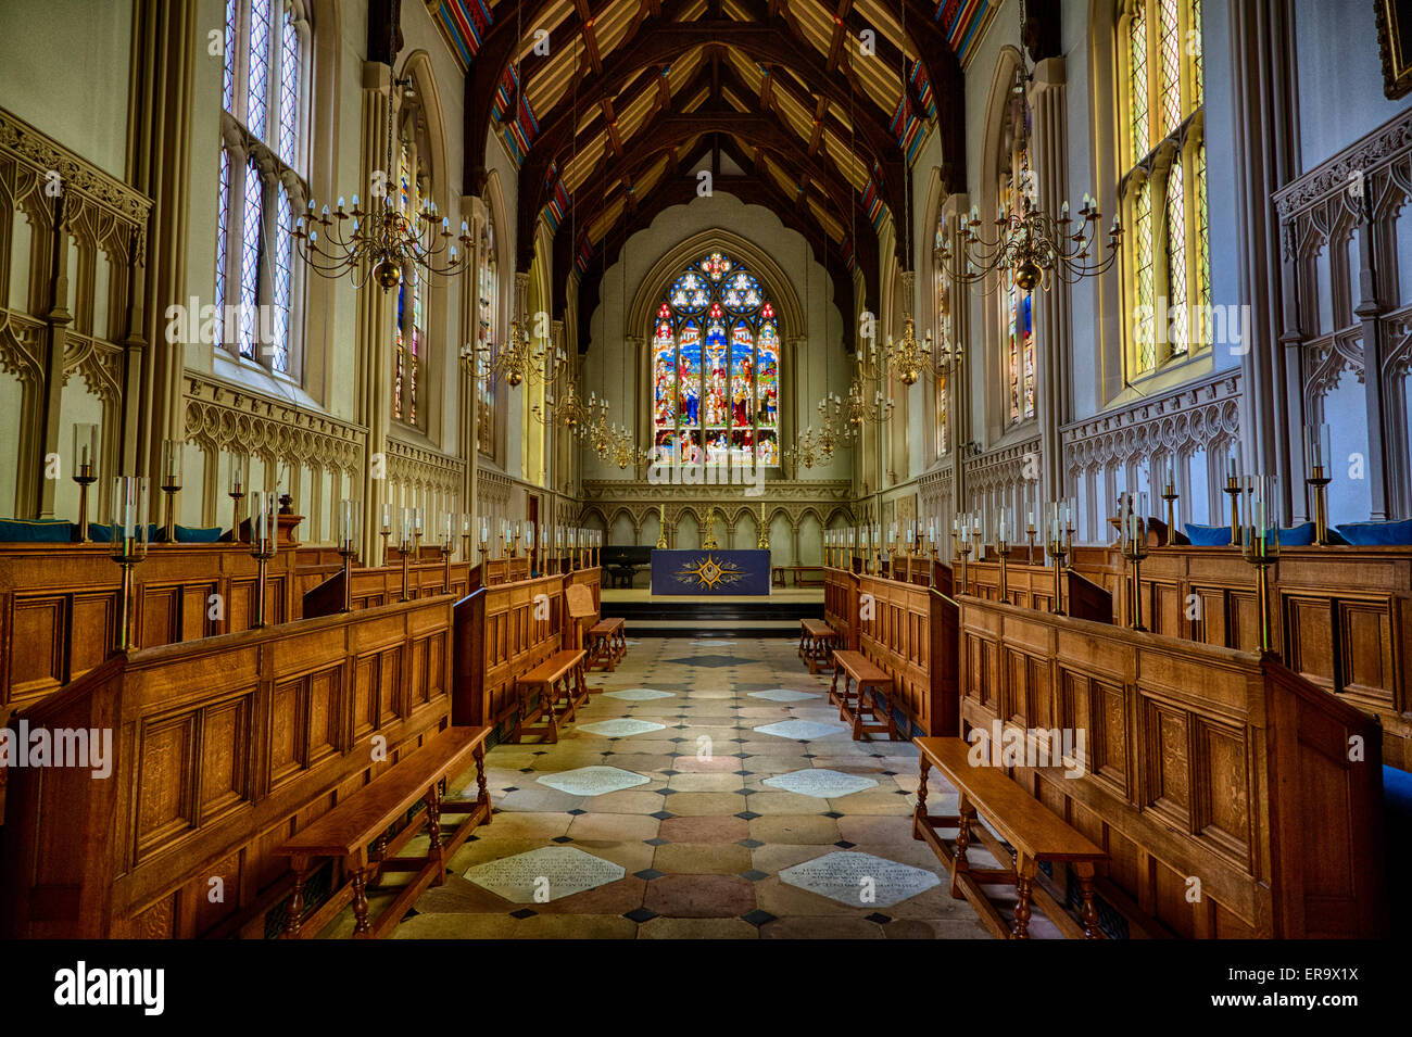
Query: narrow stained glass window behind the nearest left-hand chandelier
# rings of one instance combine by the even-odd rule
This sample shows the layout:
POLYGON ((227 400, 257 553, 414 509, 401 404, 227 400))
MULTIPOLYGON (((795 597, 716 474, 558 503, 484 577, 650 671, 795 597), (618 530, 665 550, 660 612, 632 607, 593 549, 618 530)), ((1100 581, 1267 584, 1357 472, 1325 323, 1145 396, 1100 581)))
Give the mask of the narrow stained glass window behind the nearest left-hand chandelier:
MULTIPOLYGON (((421 109, 407 106, 402 111, 401 133, 397 148, 397 212, 409 223, 417 222, 417 213, 429 202, 431 172, 426 161, 431 154, 426 147, 426 131, 421 109)), ((425 415, 421 401, 421 368, 426 358, 426 282, 408 264, 402 271, 402 282, 397 288, 397 327, 393 341, 393 418, 421 427, 425 415)))

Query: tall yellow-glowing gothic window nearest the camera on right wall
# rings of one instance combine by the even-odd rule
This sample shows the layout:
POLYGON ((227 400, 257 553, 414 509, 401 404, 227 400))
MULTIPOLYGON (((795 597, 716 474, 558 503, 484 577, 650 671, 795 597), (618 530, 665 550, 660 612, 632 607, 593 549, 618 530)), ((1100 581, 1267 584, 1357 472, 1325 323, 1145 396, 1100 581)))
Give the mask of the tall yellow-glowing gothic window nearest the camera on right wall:
POLYGON ((1124 0, 1120 205, 1130 377, 1204 348, 1211 268, 1200 0, 1124 0))

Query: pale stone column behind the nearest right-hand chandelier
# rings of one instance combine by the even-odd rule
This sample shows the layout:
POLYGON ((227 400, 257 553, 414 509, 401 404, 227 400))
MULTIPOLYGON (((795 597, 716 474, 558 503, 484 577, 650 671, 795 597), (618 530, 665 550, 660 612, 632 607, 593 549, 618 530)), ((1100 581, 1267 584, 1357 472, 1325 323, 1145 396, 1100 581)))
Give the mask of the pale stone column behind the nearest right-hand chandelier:
MULTIPOLYGON (((1035 172, 1035 202, 1048 213, 1058 213, 1067 198, 1069 168, 1067 120, 1065 117, 1066 75, 1063 58, 1048 58, 1035 65, 1034 83, 1029 87, 1029 106, 1034 113, 1034 137, 1029 145, 1032 169, 1035 172)), ((1093 247, 1094 260, 1101 260, 1106 229, 1097 227, 1093 247)), ((1039 483, 1038 504, 1053 501, 1063 495, 1063 451, 1059 429, 1072 413, 1073 378, 1069 370, 1070 320, 1069 285, 1063 278, 1053 278, 1048 292, 1035 292, 1035 325, 1039 332, 1039 348, 1035 353, 1035 402, 1039 418, 1039 483)), ((1042 511, 1036 508, 1038 512, 1042 511)), ((1019 516, 1021 519, 1024 516, 1019 516)))

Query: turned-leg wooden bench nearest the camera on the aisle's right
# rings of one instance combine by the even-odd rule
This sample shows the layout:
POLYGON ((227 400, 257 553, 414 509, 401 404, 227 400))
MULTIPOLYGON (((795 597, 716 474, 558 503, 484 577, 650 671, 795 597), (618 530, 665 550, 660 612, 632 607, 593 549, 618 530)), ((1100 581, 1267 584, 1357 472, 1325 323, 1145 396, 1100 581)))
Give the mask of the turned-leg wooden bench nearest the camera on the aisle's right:
POLYGON ((971 746, 964 739, 914 741, 921 753, 921 783, 916 787, 912 838, 931 845, 946 865, 952 876, 952 896, 957 899, 964 896, 970 900, 986 927, 1003 940, 1029 938, 1032 903, 1038 904, 1066 937, 1103 938, 1099 913, 1093 906, 1093 876, 1094 866, 1107 862, 1108 855, 1011 780, 1003 768, 973 765, 971 746), (933 766, 956 786, 959 803, 955 815, 926 813, 926 773, 933 766), (1000 838, 995 838, 986 825, 977 824, 977 814, 1000 834, 1000 838), (956 828, 955 849, 938 834, 938 828, 956 828), (1010 866, 973 868, 966 859, 966 849, 973 837, 997 861, 1010 866), (1014 848, 1014 858, 1004 844, 1014 848), (1073 868, 1079 880, 1082 926, 1038 879, 1039 865, 1043 862, 1073 868), (1015 887, 1014 926, 1005 924, 1000 911, 981 892, 981 883, 1004 883, 1015 887))

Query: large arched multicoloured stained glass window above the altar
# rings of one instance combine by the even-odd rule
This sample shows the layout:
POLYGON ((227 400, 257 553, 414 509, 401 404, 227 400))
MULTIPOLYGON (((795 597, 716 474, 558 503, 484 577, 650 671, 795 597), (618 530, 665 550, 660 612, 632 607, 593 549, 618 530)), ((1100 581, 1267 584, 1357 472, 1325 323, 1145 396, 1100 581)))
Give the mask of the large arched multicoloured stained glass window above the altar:
POLYGON ((779 464, 775 310, 729 255, 692 262, 657 310, 652 433, 674 464, 779 464))

